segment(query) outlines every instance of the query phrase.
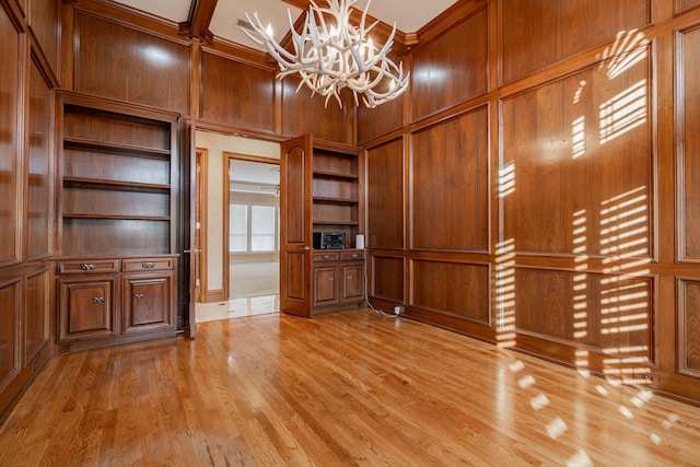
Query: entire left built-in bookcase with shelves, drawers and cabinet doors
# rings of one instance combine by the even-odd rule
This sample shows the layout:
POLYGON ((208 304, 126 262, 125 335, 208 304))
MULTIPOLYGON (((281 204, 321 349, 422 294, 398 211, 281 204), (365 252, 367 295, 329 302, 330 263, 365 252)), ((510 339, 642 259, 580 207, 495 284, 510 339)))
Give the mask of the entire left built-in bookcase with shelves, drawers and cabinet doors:
POLYGON ((177 115, 59 101, 59 351, 176 330, 177 115))

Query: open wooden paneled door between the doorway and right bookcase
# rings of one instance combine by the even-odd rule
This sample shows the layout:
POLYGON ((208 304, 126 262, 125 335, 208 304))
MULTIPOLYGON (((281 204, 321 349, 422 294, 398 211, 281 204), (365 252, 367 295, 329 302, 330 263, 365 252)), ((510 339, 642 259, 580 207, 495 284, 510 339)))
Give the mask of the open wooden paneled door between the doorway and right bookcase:
POLYGON ((312 137, 281 144, 280 154, 280 310, 312 315, 312 137))

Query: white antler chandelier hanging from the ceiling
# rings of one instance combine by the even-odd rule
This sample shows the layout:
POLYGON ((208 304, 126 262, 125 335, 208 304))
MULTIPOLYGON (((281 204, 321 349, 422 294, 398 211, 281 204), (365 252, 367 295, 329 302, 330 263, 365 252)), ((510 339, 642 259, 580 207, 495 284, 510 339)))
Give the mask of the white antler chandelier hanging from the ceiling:
POLYGON ((378 23, 376 21, 370 27, 364 26, 371 0, 362 12, 359 26, 350 24, 350 7, 357 1, 328 0, 328 8, 319 8, 314 0, 310 0, 301 33, 294 31, 292 14, 288 11, 293 52, 275 40, 271 26, 264 27, 257 12, 253 13, 253 19, 248 13, 245 15, 259 37, 245 28, 243 31, 278 61, 278 79, 299 73, 302 82, 296 87, 298 92, 302 84, 306 84, 312 95, 326 97, 326 105, 332 96, 342 106, 340 91, 347 87, 352 91, 355 105, 359 105, 361 94, 364 105, 376 107, 406 91, 410 73, 404 73, 404 65, 397 66, 386 56, 394 44, 396 23, 381 49, 370 37, 369 33, 378 23), (328 24, 327 16, 334 19, 336 24, 328 24))

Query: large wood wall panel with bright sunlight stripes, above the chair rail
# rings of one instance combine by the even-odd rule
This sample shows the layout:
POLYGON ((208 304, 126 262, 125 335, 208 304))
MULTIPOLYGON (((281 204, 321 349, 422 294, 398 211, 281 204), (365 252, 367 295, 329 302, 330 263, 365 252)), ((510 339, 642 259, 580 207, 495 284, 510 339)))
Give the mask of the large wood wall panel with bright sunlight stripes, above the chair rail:
POLYGON ((653 84, 648 49, 633 54, 503 101, 503 230, 516 250, 652 255, 653 84))

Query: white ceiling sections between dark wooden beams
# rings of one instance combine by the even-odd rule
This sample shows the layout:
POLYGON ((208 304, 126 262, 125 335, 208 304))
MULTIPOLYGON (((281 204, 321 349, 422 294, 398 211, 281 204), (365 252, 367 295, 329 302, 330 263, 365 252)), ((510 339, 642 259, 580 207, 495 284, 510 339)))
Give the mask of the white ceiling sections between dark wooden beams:
MULTIPOLYGON (((200 0, 116 1, 116 3, 121 3, 176 23, 188 21, 192 2, 197 3, 200 2, 200 0)), ((246 12, 253 15, 253 12, 257 11, 260 21, 264 24, 270 23, 275 30, 276 38, 281 40, 290 30, 288 11, 291 12, 292 21, 295 21, 305 12, 291 3, 301 4, 302 2, 282 0, 218 0, 211 22, 209 23, 209 31, 211 31, 215 37, 259 49, 237 26, 238 20, 245 21, 246 12)), ((370 3, 368 15, 388 25, 396 23, 397 30, 402 33, 415 33, 454 3, 456 3, 456 0, 374 0, 370 3)), ((365 0, 359 0, 353 8, 365 10, 366 4, 368 2, 365 0)), ((370 23, 369 19, 368 23, 370 23)))

